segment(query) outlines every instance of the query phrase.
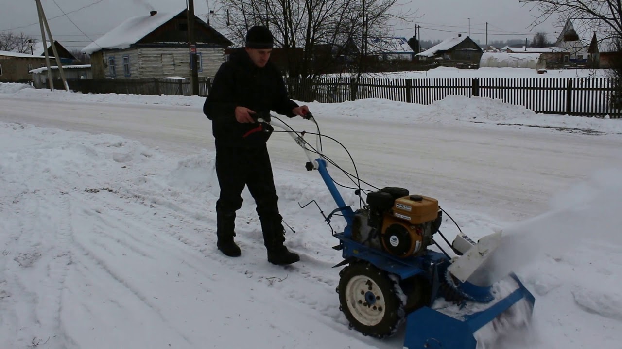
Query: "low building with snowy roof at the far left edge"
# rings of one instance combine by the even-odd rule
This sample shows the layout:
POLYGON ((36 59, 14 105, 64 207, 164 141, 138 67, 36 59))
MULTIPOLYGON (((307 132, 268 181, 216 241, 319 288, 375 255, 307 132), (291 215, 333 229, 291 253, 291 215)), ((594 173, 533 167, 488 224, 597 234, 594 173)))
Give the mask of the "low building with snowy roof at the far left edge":
MULTIPOLYGON (((53 60, 53 57, 50 57, 50 60, 53 60)), ((45 57, 0 51, 0 82, 29 83, 32 81, 30 71, 42 66, 45 66, 45 57)))

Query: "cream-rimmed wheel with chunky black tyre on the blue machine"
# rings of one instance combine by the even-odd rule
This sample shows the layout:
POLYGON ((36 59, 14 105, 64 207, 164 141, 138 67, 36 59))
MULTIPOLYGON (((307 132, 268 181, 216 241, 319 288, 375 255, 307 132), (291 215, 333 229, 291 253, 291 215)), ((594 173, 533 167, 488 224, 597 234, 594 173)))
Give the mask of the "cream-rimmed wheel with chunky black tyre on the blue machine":
POLYGON ((352 263, 340 272, 340 309, 350 326, 371 337, 394 334, 404 321, 402 290, 389 274, 367 262, 352 263))

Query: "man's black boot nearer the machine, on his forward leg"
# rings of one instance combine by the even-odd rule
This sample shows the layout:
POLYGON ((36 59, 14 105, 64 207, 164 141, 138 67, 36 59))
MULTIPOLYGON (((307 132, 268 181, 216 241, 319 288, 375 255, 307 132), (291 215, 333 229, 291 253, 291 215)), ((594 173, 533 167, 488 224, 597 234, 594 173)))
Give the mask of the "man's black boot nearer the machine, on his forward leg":
POLYGON ((300 256, 287 250, 285 242, 285 229, 281 224, 281 215, 277 214, 270 218, 262 217, 261 229, 264 234, 268 261, 276 265, 288 265, 300 260, 300 256))

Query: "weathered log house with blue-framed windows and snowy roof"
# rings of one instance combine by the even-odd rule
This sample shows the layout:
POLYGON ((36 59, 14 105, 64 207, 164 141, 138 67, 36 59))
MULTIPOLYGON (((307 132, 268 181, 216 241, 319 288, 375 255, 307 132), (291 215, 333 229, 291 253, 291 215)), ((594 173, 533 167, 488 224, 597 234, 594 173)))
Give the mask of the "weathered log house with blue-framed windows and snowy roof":
MULTIPOLYGON (((214 76, 232 42, 195 16, 198 76, 214 76)), ((190 78, 188 12, 132 17, 85 47, 93 78, 190 78)))

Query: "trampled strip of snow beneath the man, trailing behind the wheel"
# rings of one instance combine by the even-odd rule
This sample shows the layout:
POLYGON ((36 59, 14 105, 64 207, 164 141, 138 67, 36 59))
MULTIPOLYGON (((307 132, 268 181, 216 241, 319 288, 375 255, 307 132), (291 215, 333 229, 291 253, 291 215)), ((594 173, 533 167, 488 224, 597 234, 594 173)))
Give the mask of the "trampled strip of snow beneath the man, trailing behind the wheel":
MULTIPOLYGON (((129 196, 137 199, 136 204, 146 207, 155 205, 154 211, 160 215, 160 219, 162 219, 162 217, 166 217, 167 219, 172 218, 176 222, 174 225, 166 227, 164 224, 157 224, 157 219, 145 219, 143 216, 134 217, 140 220, 141 224, 148 225, 155 231, 167 233, 170 237, 175 238, 175 240, 200 252, 206 258, 220 265, 225 265, 228 269, 243 274, 246 278, 256 283, 261 283, 277 289, 295 302, 302 303, 309 309, 316 310, 322 317, 330 318, 328 322, 325 322, 328 325, 335 327, 335 323, 337 323, 343 326, 343 333, 351 334, 351 332, 346 332, 349 331, 348 324, 345 317, 342 317, 343 314, 338 310, 338 296, 337 292, 335 292, 338 283, 338 272, 335 271, 333 277, 327 277, 325 271, 320 270, 320 268, 328 269, 332 267, 329 263, 315 260, 309 254, 302 252, 307 258, 297 263, 297 265, 285 267, 273 266, 267 262, 266 250, 263 245, 261 233, 253 233, 245 229, 238 229, 238 234, 236 236, 236 239, 239 240, 243 248, 243 257, 231 259, 222 256, 221 253, 216 250, 216 234, 214 231, 216 222, 213 217, 193 212, 185 208, 187 205, 177 204, 175 201, 171 202, 161 196, 158 197, 157 200, 151 200, 150 197, 153 197, 151 193, 135 191, 136 189, 130 188, 126 188, 126 190, 129 196), (140 202, 143 199, 146 202, 140 202), (197 233, 196 235, 192 235, 187 232, 197 233), (264 265, 262 265, 262 263, 264 265), (310 266, 312 268, 309 268, 310 266), (289 285, 287 283, 287 278, 292 278, 292 276, 305 280, 305 286, 302 287, 297 283, 289 285), (301 291, 300 288, 307 289, 301 291)), ((188 200, 187 197, 183 199, 188 200)), ((98 200, 99 203, 111 211, 122 210, 115 201, 105 200, 103 197, 98 197, 98 200)), ((245 218, 241 215, 238 215, 238 217, 240 217, 240 219, 245 218)), ((242 227, 242 225, 238 226, 242 227)), ((201 261, 198 261, 198 263, 201 263, 201 261)), ((200 264, 193 266, 193 268, 198 271, 202 269, 200 264)))

